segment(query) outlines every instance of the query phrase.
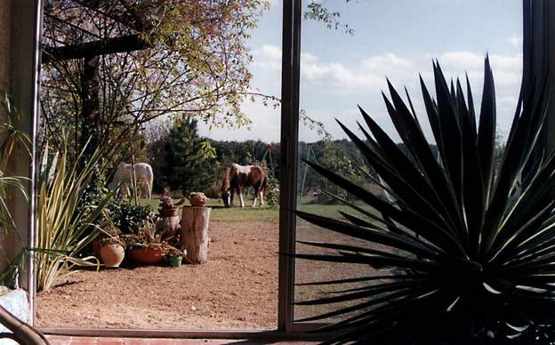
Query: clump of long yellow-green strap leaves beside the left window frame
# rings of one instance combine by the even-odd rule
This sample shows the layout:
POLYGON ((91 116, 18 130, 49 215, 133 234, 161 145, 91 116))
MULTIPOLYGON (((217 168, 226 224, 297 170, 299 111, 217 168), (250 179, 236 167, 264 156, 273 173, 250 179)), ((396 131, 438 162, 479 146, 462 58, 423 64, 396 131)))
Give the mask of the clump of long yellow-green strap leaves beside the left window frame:
MULTIPOLYGON (((49 290, 71 273, 75 266, 96 266, 93 256, 80 257, 84 248, 109 224, 104 212, 111 193, 100 198, 98 204, 84 207, 84 194, 93 179, 97 164, 107 154, 97 148, 86 162, 79 156, 68 162, 68 150, 49 155, 43 153, 38 178, 36 248, 28 248, 36 261, 38 290, 49 290)), ((105 166, 101 166, 101 171, 105 166)))

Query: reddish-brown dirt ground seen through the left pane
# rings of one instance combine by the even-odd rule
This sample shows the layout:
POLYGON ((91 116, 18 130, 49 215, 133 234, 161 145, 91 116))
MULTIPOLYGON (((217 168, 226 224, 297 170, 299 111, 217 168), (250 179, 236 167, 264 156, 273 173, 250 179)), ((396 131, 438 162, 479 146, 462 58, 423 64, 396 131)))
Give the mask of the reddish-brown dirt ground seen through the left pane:
POLYGON ((205 265, 80 271, 38 293, 42 327, 275 329, 277 222, 213 221, 205 265))

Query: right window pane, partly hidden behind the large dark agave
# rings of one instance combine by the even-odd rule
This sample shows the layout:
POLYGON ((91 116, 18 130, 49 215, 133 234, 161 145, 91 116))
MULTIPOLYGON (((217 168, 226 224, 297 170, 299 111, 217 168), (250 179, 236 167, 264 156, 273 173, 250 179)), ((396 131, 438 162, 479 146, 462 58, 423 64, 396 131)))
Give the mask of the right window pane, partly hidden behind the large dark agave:
MULTIPOLYGON (((503 145, 519 97, 522 70, 521 1, 308 1, 304 5, 304 12, 308 14, 305 14, 302 22, 300 108, 308 118, 304 125, 301 124, 300 158, 322 164, 386 199, 382 189, 358 170, 357 165, 368 169, 366 161, 334 118, 362 137, 363 133, 357 125, 357 121, 364 124, 357 108, 360 105, 394 140, 399 141, 398 135, 393 134, 395 128, 381 95, 382 90, 388 93, 388 77, 398 90, 402 91, 403 86, 406 86, 423 130, 431 138, 430 125, 423 108, 419 74, 430 85, 430 92, 433 92, 432 60, 438 59, 448 78, 463 78, 466 73, 474 92, 474 101, 478 105, 486 53, 494 70, 498 132, 501 133, 499 145, 503 145), (318 6, 320 3, 323 7, 318 6), (328 13, 330 17, 322 13, 328 13), (307 124, 313 127, 316 125, 316 129, 307 124), (320 124, 327 137, 318 132, 320 124)), ((372 172, 368 170, 367 173, 372 172)), ((302 211, 334 219, 344 218, 340 211, 361 215, 337 202, 326 192, 339 194, 372 213, 356 197, 344 193, 342 189, 318 177, 318 173, 306 164, 299 162, 298 197, 302 211)), ((296 237, 302 241, 359 244, 349 237, 318 228, 301 219, 297 224, 296 237)), ((371 246, 371 249, 388 250, 379 246, 371 246)), ((334 253, 333 250, 308 245, 298 245, 297 252, 334 253)), ((361 265, 297 260, 295 282, 299 284, 384 274, 391 272, 361 265)), ((330 296, 322 293, 358 286, 296 286, 295 300, 307 301, 330 296)), ((349 303, 297 306, 294 317, 298 320, 315 316, 346 307, 349 303)))

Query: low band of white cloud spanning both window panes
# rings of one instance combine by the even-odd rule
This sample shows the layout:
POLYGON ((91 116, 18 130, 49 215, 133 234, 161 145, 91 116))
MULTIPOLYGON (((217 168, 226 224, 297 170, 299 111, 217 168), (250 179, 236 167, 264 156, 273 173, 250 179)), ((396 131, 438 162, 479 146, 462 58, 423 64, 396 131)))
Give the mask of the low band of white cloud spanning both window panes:
MULTIPOLYGON (((483 83, 484 57, 482 53, 467 51, 421 53, 412 56, 401 56, 393 52, 371 55, 357 60, 326 60, 313 52, 302 52, 301 55, 301 107, 307 114, 326 124, 326 129, 334 137, 344 137, 334 117, 345 120, 352 128, 356 128, 356 104, 360 103, 369 113, 373 114, 386 130, 393 133, 388 116, 383 106, 380 90, 387 88, 386 76, 399 91, 406 85, 414 101, 416 112, 426 127, 427 120, 423 110, 418 76, 422 74, 433 92, 431 60, 438 59, 447 78, 467 74, 471 80, 474 100, 479 103, 483 83), (355 110, 355 111, 353 111, 355 110)), ((497 95, 499 126, 506 132, 511 124, 511 117, 517 102, 522 70, 522 55, 490 54, 494 69, 497 95)), ((274 78, 281 69, 281 49, 277 45, 264 44, 253 51, 253 67, 255 79, 274 78)), ((272 79, 273 80, 273 79, 272 79)), ((262 81, 261 79, 259 81, 262 81)), ((276 81, 278 94, 279 81, 276 81)), ((261 86, 259 83, 256 83, 261 86)), ((267 89, 269 85, 264 88, 267 89)), ((245 103, 245 114, 253 119, 253 132, 239 130, 216 130, 211 136, 237 139, 278 140, 278 110, 271 110, 245 103), (272 114, 270 116, 270 114, 272 114), (255 137, 255 138, 253 138, 255 137)), ((394 137, 398 138, 396 135, 394 137)), ((302 131, 304 140, 317 140, 315 133, 302 131)))

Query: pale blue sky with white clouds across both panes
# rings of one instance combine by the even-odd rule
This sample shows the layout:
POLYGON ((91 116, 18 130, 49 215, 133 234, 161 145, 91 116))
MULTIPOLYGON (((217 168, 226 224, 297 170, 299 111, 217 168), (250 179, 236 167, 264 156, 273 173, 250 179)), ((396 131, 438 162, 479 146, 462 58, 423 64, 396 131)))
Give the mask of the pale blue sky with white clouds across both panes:
MULTIPOLYGON (((354 128, 360 119, 357 105, 398 139, 381 95, 387 89, 386 77, 399 91, 406 86, 426 123, 418 76, 433 90, 433 59, 439 60, 447 77, 467 73, 478 104, 486 53, 494 70, 498 130, 508 132, 522 74, 521 0, 327 0, 326 6, 341 13, 354 35, 302 21, 300 108, 323 122, 335 139, 346 136, 334 118, 354 128)), ((271 0, 248 42, 253 89, 276 96, 281 84, 282 9, 281 0, 271 0)), ((210 131, 201 125, 201 134, 217 140, 279 140, 279 108, 248 100, 243 108, 253 121, 250 129, 210 131)), ((424 131, 430 134, 429 126, 424 131)), ((303 141, 320 139, 303 125, 299 135, 303 141)))

